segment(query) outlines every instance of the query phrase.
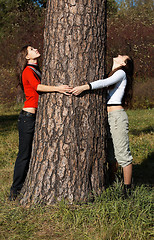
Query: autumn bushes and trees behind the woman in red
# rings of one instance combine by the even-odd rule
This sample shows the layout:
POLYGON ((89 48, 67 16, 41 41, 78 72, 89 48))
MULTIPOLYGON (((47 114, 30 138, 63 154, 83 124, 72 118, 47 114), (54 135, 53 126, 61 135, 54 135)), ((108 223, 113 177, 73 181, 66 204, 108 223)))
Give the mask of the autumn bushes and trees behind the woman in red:
POLYGON ((23 101, 16 79, 16 56, 31 44, 43 48, 44 8, 32 0, 0 0, 0 101, 23 101), (18 86, 18 87, 17 87, 18 86))

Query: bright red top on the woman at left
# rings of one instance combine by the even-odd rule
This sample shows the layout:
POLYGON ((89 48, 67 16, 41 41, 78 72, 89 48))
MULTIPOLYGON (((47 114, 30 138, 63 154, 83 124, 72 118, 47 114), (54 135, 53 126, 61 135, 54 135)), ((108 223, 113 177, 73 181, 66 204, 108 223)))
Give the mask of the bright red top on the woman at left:
POLYGON ((37 86, 41 83, 41 81, 37 74, 28 66, 22 73, 22 83, 26 97, 24 108, 37 108, 39 98, 37 86))

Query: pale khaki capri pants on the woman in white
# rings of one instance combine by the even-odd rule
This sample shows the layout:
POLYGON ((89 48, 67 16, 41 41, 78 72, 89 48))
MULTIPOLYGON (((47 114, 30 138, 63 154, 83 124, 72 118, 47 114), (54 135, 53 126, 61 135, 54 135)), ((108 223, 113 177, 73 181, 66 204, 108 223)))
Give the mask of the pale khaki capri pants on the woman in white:
POLYGON ((109 144, 108 161, 117 160, 118 164, 126 167, 132 163, 132 155, 129 148, 128 116, 124 109, 108 113, 109 144))

